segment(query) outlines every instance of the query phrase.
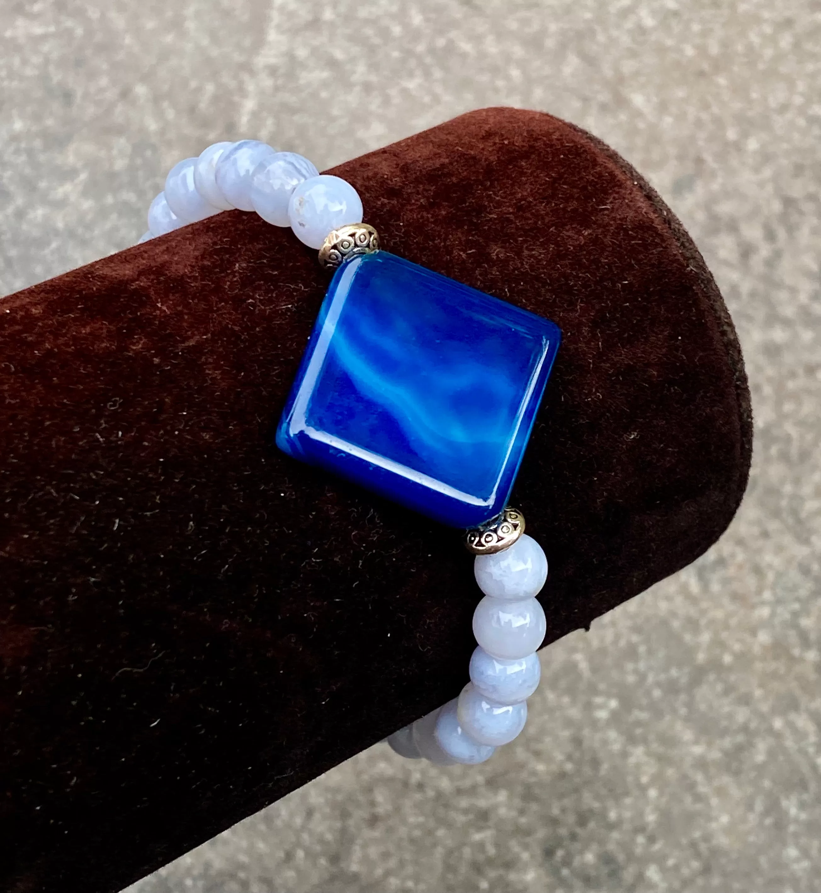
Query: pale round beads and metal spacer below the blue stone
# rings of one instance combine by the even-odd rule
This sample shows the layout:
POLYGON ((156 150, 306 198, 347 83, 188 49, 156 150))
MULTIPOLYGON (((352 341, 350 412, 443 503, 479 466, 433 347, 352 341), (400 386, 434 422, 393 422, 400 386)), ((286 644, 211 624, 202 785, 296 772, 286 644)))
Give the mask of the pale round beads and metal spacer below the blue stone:
POLYGON ((459 697, 389 736, 396 753, 437 765, 477 764, 524 729, 527 698, 539 685, 537 648, 547 622, 536 595, 548 577, 548 560, 524 534, 524 517, 506 509, 469 531, 476 553, 473 575, 484 593, 473 613, 478 646, 470 682, 459 697))

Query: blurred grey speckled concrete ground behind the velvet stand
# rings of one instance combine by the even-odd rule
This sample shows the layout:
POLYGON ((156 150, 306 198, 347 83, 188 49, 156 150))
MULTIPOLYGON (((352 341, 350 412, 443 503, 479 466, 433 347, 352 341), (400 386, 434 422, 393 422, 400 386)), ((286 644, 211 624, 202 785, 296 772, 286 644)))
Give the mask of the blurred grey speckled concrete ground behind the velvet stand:
POLYGON ((218 138, 320 166, 544 109, 646 174, 739 330, 750 490, 698 563, 544 653, 479 768, 374 747, 130 893, 821 889, 821 3, 6 0, 0 293, 117 251, 218 138))

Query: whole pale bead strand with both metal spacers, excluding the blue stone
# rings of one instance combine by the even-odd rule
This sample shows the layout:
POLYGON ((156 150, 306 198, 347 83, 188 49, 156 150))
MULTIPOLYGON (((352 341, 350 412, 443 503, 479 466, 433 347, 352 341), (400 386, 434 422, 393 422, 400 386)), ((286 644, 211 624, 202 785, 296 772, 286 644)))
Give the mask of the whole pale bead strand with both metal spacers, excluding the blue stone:
MULTIPOLYGON (((208 146, 175 164, 148 210, 148 231, 162 236, 187 223, 238 208, 290 228, 320 262, 339 266, 376 250, 373 227, 362 223, 362 201, 346 180, 320 174, 302 155, 278 152, 256 139, 208 146)), ((396 753, 433 764, 478 764, 524 729, 527 698, 539 685, 536 650, 546 620, 536 595, 548 576, 539 544, 524 534, 524 517, 507 508, 466 535, 476 555, 473 573, 484 597, 473 613, 478 646, 470 682, 459 697, 387 739, 396 753)))

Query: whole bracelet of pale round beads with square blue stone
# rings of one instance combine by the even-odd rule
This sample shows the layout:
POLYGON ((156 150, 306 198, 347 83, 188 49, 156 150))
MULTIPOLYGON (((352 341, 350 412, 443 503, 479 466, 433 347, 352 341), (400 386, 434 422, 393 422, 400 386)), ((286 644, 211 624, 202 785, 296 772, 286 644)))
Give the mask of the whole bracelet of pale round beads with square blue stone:
POLYGON ((389 736, 396 753, 478 764, 524 728, 540 680, 548 576, 507 506, 560 340, 550 321, 381 250, 348 182, 258 140, 176 164, 151 203, 161 236, 222 210, 290 226, 334 270, 277 446, 466 529, 484 597, 459 697, 389 736))

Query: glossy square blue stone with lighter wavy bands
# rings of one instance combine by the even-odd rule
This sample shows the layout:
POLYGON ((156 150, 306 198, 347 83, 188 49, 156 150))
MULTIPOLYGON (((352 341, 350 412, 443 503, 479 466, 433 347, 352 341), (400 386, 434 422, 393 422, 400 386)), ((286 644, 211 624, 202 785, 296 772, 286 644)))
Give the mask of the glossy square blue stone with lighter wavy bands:
POLYGON ((507 504, 552 322, 386 251, 335 273, 277 445, 452 527, 507 504))

